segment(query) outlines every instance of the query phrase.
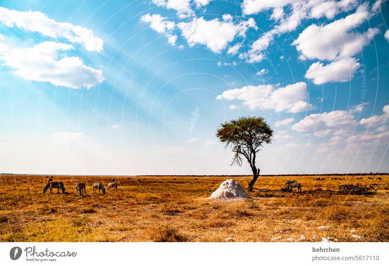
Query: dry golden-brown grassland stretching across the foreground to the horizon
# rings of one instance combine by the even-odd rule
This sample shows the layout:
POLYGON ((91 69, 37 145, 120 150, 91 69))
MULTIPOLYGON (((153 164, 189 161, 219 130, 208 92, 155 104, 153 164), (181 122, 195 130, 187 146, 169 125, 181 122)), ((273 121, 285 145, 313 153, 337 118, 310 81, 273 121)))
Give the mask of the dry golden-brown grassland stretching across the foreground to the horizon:
MULTIPOLYGON (((261 176, 248 193, 253 199, 222 201, 208 197, 228 177, 115 177, 118 192, 93 195, 92 182, 106 186, 110 177, 55 176, 66 192, 51 195, 42 192, 42 176, 0 175, 0 241, 268 242, 304 235, 307 241, 388 242, 389 178, 381 177, 261 176), (301 182, 302 193, 280 192, 287 179, 301 182), (87 184, 86 196, 76 195, 79 182, 87 184), (356 182, 376 183, 377 194, 336 192, 338 185, 356 182)), ((247 188, 249 177, 233 179, 247 188)))

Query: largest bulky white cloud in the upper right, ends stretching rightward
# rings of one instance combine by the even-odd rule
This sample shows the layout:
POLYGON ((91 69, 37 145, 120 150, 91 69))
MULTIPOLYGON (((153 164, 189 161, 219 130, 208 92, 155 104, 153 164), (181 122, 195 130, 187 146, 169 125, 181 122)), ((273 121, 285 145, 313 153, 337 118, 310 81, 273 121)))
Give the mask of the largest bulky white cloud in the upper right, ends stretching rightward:
POLYGON ((302 59, 336 60, 353 56, 379 32, 376 28, 370 28, 364 33, 355 32, 355 27, 368 18, 367 5, 361 5, 354 14, 330 24, 310 25, 292 44, 296 45, 302 59))

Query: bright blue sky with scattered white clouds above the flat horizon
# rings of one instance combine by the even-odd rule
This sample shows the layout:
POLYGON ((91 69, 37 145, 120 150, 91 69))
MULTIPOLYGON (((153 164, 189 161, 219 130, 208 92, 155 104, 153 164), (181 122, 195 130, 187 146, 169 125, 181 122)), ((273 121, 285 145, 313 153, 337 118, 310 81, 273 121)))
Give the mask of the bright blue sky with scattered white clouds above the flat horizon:
POLYGON ((0 172, 250 174, 220 123, 274 129, 261 174, 389 171, 386 0, 1 1, 0 172))

